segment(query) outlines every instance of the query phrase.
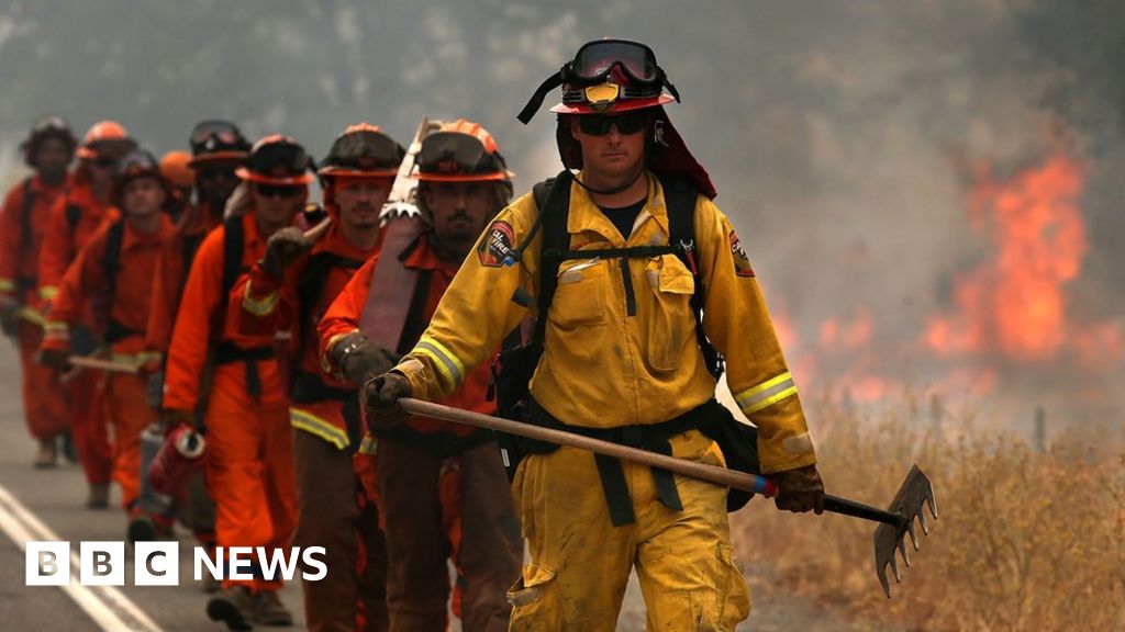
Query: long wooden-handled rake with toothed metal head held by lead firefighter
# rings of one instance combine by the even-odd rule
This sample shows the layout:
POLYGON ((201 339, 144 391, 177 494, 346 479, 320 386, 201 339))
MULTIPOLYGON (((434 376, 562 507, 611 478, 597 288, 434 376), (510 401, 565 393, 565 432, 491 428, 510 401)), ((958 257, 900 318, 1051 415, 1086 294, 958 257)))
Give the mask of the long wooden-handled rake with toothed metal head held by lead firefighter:
MULTIPOLYGON (((763 496, 773 497, 777 495, 777 486, 774 481, 747 472, 666 457, 647 450, 591 439, 580 434, 513 422, 511 419, 442 406, 441 404, 433 404, 421 399, 406 397, 399 399, 398 403, 404 410, 412 415, 424 415, 458 424, 506 432, 558 445, 588 450, 597 454, 624 459, 716 485, 762 494, 763 496)), ((864 505, 863 503, 856 503, 855 500, 848 500, 847 498, 829 494, 825 495, 826 511, 880 523, 875 529, 874 539, 875 574, 879 576, 879 583, 882 585, 888 598, 891 596, 891 587, 886 578, 886 567, 891 567, 897 583, 902 581, 902 576, 899 574, 899 566, 894 558, 896 550, 901 552, 902 561, 906 562, 907 567, 910 566, 910 556, 907 552, 906 544, 907 535, 910 536, 910 542, 914 544, 915 551, 918 550, 918 536, 914 526, 915 518, 921 524, 922 533, 929 535, 929 526, 926 524, 922 505, 928 505, 929 513, 934 520, 937 520, 937 503, 934 499, 934 486, 918 466, 910 468, 910 472, 907 473, 906 480, 902 481, 898 494, 894 495, 894 500, 891 502, 886 511, 864 505)))

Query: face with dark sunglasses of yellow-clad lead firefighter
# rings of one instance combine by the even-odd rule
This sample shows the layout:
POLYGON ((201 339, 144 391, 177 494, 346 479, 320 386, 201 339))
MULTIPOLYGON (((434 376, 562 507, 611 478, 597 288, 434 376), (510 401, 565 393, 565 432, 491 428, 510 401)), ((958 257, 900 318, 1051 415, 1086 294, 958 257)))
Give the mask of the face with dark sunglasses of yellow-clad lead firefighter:
MULTIPOLYGON (((608 126, 602 125, 601 129, 583 130, 584 124, 605 123, 605 118, 600 121, 593 117, 606 115, 577 115, 570 117, 570 135, 582 145, 583 171, 597 175, 603 180, 616 181, 630 178, 637 173, 645 161, 645 129, 646 126, 637 128, 636 124, 626 125, 628 134, 622 134, 618 123, 608 126), (585 121, 580 119, 586 119, 585 121), (606 130, 608 127, 608 130, 606 130), (592 133, 595 132, 595 133, 592 133), (605 132, 596 134, 596 132, 605 132)), ((609 118, 644 118, 640 112, 626 112, 624 115, 609 118)), ((592 125, 591 127, 598 127, 592 125)))

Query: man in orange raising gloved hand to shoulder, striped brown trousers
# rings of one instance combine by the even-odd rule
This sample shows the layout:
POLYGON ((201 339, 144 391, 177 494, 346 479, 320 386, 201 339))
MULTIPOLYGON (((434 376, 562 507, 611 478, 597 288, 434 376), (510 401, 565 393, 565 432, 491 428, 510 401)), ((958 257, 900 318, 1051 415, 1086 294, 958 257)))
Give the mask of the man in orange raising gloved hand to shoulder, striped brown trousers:
MULTIPOLYGON (((377 126, 348 127, 318 171, 332 218, 327 231, 315 242, 295 226, 274 233, 266 258, 240 279, 231 296, 242 306, 232 313, 240 333, 291 329, 298 353, 289 409, 297 431, 294 545, 324 547, 327 566, 324 579, 302 584, 310 631, 388 629, 386 544, 374 484, 364 489, 360 478, 374 473, 374 464, 369 455, 357 454, 372 445, 361 433, 361 380, 325 371, 316 324, 356 270, 376 254, 379 211, 405 153, 377 126)), ((367 372, 394 364, 387 355, 361 358, 367 372)))

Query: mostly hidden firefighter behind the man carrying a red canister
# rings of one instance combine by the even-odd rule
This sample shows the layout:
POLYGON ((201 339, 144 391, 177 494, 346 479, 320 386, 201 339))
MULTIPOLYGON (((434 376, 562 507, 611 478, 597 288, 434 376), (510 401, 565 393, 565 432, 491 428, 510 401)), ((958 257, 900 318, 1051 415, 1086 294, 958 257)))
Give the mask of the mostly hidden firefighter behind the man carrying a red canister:
MULTIPOLYGON (((194 196, 186 200, 176 228, 161 249, 152 286, 152 309, 148 327, 145 329, 145 373, 148 374, 148 403, 161 408, 164 389, 164 355, 172 337, 176 315, 180 307, 180 296, 188 279, 188 270, 204 237, 223 223, 223 209, 238 184, 237 169, 250 152, 250 142, 233 123, 226 120, 201 120, 188 138, 191 160, 188 168, 195 175, 194 196)), ((195 365, 202 371, 207 363, 195 365)), ((186 369, 186 367, 182 367, 186 369)), ((195 376, 200 391, 207 392, 205 374, 195 376)), ((197 403, 195 422, 205 410, 197 403)), ((173 422, 168 419, 168 422, 173 422)), ((174 426, 174 423, 165 424, 174 426)), ((172 430, 171 427, 166 430, 172 430)), ((208 549, 215 547, 215 506, 205 485, 201 472, 192 473, 183 486, 182 496, 177 499, 178 516, 189 527, 196 540, 208 549)), ((204 577, 204 590, 213 593, 218 585, 204 577)))

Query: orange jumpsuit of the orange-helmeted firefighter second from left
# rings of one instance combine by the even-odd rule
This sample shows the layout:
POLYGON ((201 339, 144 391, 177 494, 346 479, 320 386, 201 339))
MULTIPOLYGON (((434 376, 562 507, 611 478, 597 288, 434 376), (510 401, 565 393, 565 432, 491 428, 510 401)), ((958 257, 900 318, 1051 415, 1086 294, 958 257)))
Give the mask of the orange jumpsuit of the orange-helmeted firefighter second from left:
MULTIPOLYGON (((46 233, 39 246, 39 298, 43 300, 44 316, 50 316, 51 304, 58 294, 58 283, 82 245, 102 222, 116 217, 117 209, 110 207, 108 201, 97 199, 81 171, 76 173, 70 190, 51 208, 46 233), (76 222, 73 225, 71 209, 76 210, 73 215, 76 222)), ((78 324, 89 332, 93 325, 92 312, 87 309, 78 324)), ((112 467, 109 435, 101 415, 102 407, 98 404, 102 396, 102 378, 97 371, 82 371, 71 380, 68 389, 70 401, 75 403, 70 407, 74 448, 90 485, 109 482, 112 467)))

